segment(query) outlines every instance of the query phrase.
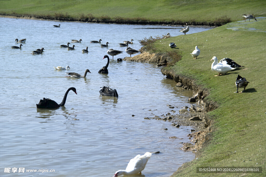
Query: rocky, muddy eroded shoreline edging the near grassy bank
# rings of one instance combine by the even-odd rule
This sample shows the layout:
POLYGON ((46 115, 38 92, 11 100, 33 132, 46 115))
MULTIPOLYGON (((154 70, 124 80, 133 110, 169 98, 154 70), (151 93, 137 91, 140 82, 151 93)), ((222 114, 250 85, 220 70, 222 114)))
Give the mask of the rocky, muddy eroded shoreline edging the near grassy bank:
MULTIPOLYGON (((143 63, 156 63, 157 66, 164 66, 167 62, 171 61, 171 58, 166 54, 150 54, 142 47, 140 50, 141 54, 135 55, 134 57, 125 57, 125 61, 135 61, 143 63)), ((188 139, 184 140, 182 150, 191 150, 197 153, 202 146, 207 143, 206 140, 210 139, 207 137, 212 131, 212 121, 207 116, 207 112, 214 110, 218 107, 215 102, 205 99, 209 94, 207 89, 201 87, 201 85, 195 84, 195 80, 188 78, 184 75, 176 75, 174 71, 168 71, 165 68, 161 69, 163 75, 169 79, 173 79, 177 85, 176 87, 182 87, 183 89, 189 89, 193 91, 194 102, 197 101, 201 104, 201 107, 184 107, 180 109, 180 114, 167 113, 161 117, 145 118, 145 119, 157 119, 172 122, 174 127, 190 126, 193 127, 191 133, 188 134, 188 139), (169 118, 170 117, 170 118, 169 118)), ((193 102, 191 102, 193 103, 193 102)), ((171 137, 169 137, 171 138, 171 137)), ((176 137, 173 137, 176 138, 176 137)))

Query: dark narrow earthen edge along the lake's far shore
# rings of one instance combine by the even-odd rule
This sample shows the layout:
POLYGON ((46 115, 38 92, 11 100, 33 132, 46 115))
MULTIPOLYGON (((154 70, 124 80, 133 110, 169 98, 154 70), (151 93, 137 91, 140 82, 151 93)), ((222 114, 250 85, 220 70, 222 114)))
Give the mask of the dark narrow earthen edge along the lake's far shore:
POLYGON ((180 26, 189 23, 189 26, 200 26, 200 27, 218 27, 226 23, 222 22, 196 22, 196 21, 150 21, 150 20, 112 20, 112 19, 79 19, 79 18, 65 18, 65 17, 53 17, 53 16, 38 16, 38 15, 19 15, 19 14, 1 14, 0 17, 6 18, 22 18, 32 20, 53 20, 53 21, 73 21, 73 22, 84 22, 84 23, 107 23, 107 24, 133 24, 133 25, 173 25, 180 26))

